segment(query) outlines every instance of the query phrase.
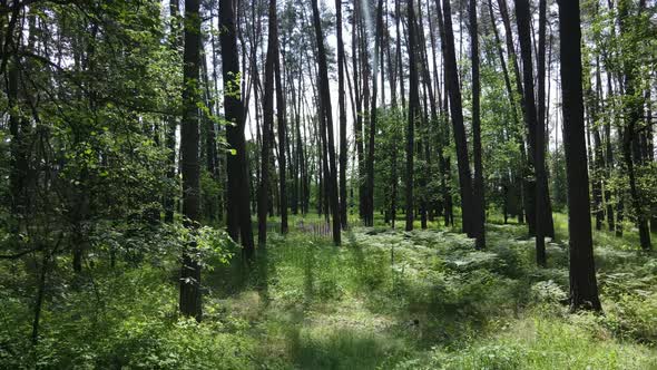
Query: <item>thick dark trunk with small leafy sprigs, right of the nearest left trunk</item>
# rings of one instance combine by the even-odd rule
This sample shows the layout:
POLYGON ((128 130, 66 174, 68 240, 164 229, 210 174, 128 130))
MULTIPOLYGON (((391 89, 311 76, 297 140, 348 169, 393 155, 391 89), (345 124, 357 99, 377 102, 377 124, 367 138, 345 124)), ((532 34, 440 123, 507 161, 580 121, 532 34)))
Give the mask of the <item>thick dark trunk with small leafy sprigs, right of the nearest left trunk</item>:
POLYGON ((226 197, 226 222, 228 235, 239 240, 244 255, 253 257, 254 243, 251 225, 251 191, 248 181, 248 163, 246 160, 246 139, 244 137, 244 104, 237 77, 239 60, 237 53, 237 35, 232 0, 219 1, 222 74, 224 78, 224 109, 226 120, 234 125, 226 127, 226 140, 234 150, 226 158, 228 176, 228 196, 226 197))

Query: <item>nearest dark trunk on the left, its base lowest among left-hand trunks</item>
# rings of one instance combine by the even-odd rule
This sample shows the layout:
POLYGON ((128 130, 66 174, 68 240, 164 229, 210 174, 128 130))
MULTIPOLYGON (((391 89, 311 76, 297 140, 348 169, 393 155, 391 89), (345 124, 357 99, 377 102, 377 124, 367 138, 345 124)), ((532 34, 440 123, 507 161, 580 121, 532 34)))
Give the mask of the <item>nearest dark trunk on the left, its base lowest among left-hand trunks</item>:
MULTIPOLYGON (((183 118, 180 120, 180 162, 183 173, 183 215, 186 225, 196 228, 200 218, 198 160, 198 77, 200 67, 200 17, 198 0, 185 0, 185 50, 183 55, 183 118)), ((186 246, 180 271, 180 313, 202 318, 200 265, 194 256, 196 244, 186 246)))

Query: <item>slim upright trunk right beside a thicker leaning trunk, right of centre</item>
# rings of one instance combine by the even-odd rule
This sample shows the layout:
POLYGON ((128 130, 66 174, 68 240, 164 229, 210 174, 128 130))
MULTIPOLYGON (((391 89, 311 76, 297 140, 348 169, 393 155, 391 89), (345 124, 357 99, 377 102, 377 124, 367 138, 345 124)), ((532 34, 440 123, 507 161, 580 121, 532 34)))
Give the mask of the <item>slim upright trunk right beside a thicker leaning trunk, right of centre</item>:
POLYGON ((474 188, 472 226, 477 237, 477 249, 486 246, 486 201, 483 184, 483 164, 481 162, 481 117, 479 81, 479 36, 477 27, 477 1, 470 0, 470 42, 472 61, 472 156, 474 160, 474 188))

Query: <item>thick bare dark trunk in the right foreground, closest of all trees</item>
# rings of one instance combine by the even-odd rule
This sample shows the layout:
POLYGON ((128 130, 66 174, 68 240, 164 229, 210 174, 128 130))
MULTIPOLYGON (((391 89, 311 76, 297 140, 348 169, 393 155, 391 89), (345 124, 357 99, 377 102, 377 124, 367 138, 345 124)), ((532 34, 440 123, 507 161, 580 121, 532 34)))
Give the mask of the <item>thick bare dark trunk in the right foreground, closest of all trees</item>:
POLYGON ((594 261, 594 241, 584 128, 581 29, 579 2, 559 1, 563 145, 568 174, 570 235, 570 308, 601 311, 594 261))

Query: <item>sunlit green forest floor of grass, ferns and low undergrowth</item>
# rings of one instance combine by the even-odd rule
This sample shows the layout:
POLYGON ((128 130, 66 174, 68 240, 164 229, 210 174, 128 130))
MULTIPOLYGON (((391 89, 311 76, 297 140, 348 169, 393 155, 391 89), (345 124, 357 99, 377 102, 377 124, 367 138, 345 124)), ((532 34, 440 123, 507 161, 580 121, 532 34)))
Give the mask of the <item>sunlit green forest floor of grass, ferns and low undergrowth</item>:
POLYGON ((522 225, 487 225, 478 252, 435 225, 354 227, 336 249, 298 222, 254 266, 235 257, 204 273, 200 324, 176 314, 175 253, 120 269, 98 259, 84 282, 62 259, 33 350, 33 266, 1 262, 0 368, 657 369, 657 255, 631 234, 595 233, 594 315, 563 304, 563 215, 548 269, 522 225))

